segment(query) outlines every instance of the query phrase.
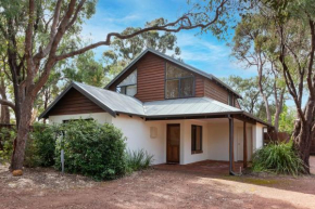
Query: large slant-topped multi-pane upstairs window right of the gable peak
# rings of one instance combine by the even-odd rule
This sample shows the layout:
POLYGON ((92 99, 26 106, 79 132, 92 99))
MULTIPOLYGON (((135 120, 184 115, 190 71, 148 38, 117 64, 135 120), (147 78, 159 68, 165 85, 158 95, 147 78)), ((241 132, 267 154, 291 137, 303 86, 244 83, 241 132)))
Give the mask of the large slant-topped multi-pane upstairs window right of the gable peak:
POLYGON ((166 63, 165 99, 190 97, 194 92, 193 74, 166 63))

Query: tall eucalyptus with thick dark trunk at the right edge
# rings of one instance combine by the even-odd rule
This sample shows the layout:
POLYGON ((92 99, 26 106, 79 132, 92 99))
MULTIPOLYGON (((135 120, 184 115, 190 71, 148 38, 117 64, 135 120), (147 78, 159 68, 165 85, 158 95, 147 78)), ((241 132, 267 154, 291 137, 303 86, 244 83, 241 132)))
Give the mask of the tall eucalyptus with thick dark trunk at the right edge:
POLYGON ((294 148, 310 173, 310 147, 315 135, 315 1, 269 1, 267 6, 277 40, 274 51, 297 108, 294 148))

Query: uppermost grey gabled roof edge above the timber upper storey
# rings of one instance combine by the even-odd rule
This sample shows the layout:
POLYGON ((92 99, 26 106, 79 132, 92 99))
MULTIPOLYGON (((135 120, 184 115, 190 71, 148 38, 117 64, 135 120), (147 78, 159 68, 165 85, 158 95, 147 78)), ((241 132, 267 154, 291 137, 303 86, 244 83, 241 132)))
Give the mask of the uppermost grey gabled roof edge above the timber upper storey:
POLYGON ((205 77, 205 78, 207 78, 207 79, 210 79, 210 80, 214 80, 215 82, 217 82, 218 84, 220 84, 220 86, 223 86, 224 88, 226 88, 228 91, 230 91, 230 92, 232 92, 235 95, 237 95, 239 99, 241 99, 242 96, 238 93, 238 92, 236 92, 235 90, 232 90, 229 86, 227 86, 226 83, 224 83, 223 81, 220 81, 218 78, 216 78, 215 76, 213 76, 212 74, 207 74, 207 73, 205 73, 205 71, 203 71, 203 70, 200 70, 200 69, 198 69, 198 68, 196 68, 196 67, 192 67, 192 66, 190 66, 190 65, 188 65, 188 64, 185 64, 185 63, 182 63, 182 62, 180 62, 180 61, 177 61, 176 58, 173 58, 172 56, 168 56, 168 55, 166 55, 166 54, 163 54, 163 53, 161 53, 161 52, 159 52, 159 51, 156 51, 156 50, 153 50, 153 49, 150 49, 150 48, 148 48, 148 49, 146 49, 143 52, 141 52, 131 63, 129 63, 129 65, 127 65, 127 67, 125 67, 109 84, 106 84, 106 87, 104 88, 104 89, 109 89, 110 88, 110 86, 111 84, 113 84, 121 76, 123 76, 130 67, 133 67, 134 66, 134 64, 136 64, 142 56, 144 56, 148 52, 151 52, 151 53, 153 53, 153 54, 155 54, 155 55, 158 55, 158 56, 161 56, 161 57, 163 57, 163 58, 165 58, 165 60, 167 60, 167 61, 169 61, 169 62, 172 62, 172 63, 174 63, 174 64, 176 64, 176 65, 179 65, 179 66, 181 66, 181 67, 184 67, 184 68, 186 68, 186 69, 188 69, 188 70, 190 70, 190 71, 192 71, 192 73, 194 73, 194 74, 198 74, 198 75, 200 75, 200 76, 202 76, 202 77, 205 77))

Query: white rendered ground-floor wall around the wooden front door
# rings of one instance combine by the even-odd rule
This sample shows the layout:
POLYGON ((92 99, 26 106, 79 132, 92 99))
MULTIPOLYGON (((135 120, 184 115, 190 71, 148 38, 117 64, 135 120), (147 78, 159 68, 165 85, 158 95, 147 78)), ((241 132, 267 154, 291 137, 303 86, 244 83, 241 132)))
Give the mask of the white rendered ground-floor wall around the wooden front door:
MULTIPOLYGON (((196 161, 212 160, 229 160, 229 126, 228 119, 215 120, 160 120, 146 121, 139 117, 129 117, 119 115, 112 117, 108 113, 80 114, 80 115, 63 115, 50 116, 51 123, 61 123, 63 120, 93 118, 100 123, 109 122, 121 129, 127 138, 127 149, 138 151, 144 149, 153 155, 153 164, 166 162, 166 129, 167 123, 180 125, 180 156, 179 164, 186 165, 196 161), (203 153, 191 154, 191 125, 202 126, 202 148, 203 153), (150 129, 156 130, 156 136, 151 138, 150 129)), ((234 148, 235 160, 238 159, 238 152, 242 152, 242 147, 238 146, 238 132, 242 129, 242 122, 235 119, 234 129, 234 148)), ((263 146, 263 125, 256 123, 252 127, 252 152, 263 146)), ((250 156, 249 156, 250 159, 250 156)))

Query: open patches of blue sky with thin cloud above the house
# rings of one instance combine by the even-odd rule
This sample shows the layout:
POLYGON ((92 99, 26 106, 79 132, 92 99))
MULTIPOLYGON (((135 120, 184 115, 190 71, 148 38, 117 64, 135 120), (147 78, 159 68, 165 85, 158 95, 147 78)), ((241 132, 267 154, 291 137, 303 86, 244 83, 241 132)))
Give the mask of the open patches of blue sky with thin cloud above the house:
MULTIPOLYGON (((90 42, 104 40, 108 32, 123 31, 126 27, 142 27, 146 22, 164 17, 169 22, 188 10, 186 0, 99 0, 96 14, 83 26, 83 36, 90 42)), ((229 75, 255 76, 230 56, 227 42, 218 41, 211 34, 197 35, 197 30, 177 32, 177 45, 185 63, 223 78, 229 75)), ((106 47, 94 50, 100 58, 106 47)))

